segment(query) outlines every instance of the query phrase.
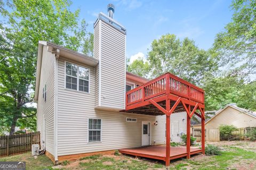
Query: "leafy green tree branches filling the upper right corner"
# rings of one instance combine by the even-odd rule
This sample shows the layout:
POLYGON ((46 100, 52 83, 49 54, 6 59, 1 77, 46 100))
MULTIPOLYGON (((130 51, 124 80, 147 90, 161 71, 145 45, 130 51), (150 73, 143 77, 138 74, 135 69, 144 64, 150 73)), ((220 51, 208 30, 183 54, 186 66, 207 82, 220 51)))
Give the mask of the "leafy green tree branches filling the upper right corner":
POLYGON ((223 65, 229 63, 252 75, 256 73, 256 2, 234 0, 231 7, 232 20, 217 34, 214 49, 222 57, 223 65))

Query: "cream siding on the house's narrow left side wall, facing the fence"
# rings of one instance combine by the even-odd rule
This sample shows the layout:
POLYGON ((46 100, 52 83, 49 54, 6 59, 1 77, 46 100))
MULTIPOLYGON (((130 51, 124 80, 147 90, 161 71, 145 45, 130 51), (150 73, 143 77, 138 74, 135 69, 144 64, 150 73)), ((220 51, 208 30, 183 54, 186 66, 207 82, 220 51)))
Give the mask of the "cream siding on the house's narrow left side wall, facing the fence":
POLYGON ((42 69, 37 101, 37 131, 41 131, 41 145, 54 155, 54 54, 43 47, 42 69), (43 119, 45 118, 45 124, 43 119), (45 139, 44 139, 45 136, 45 139))

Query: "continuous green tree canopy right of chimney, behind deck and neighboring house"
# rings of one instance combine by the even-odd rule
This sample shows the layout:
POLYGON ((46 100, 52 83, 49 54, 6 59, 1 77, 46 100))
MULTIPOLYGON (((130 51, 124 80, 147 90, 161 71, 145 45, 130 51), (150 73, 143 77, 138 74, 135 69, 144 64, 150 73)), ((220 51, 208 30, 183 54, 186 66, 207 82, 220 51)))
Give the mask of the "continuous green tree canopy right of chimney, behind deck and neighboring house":
POLYGON ((208 111, 229 103, 256 111, 256 2, 235 0, 231 9, 231 22, 209 50, 166 34, 151 43, 146 62, 135 60, 129 71, 147 78, 171 72, 202 87, 208 111))

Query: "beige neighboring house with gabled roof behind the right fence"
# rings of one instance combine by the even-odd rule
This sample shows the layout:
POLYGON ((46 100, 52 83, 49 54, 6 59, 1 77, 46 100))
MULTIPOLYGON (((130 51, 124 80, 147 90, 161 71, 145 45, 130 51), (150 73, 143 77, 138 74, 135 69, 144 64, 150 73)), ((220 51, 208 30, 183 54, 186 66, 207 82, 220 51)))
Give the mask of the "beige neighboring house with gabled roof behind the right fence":
MULTIPOLYGON (((219 128, 221 124, 234 125, 236 128, 256 126, 256 113, 247 109, 229 104, 218 111, 209 120, 206 120, 205 129, 219 128)), ((201 125, 193 125, 194 129, 201 129, 201 125)))

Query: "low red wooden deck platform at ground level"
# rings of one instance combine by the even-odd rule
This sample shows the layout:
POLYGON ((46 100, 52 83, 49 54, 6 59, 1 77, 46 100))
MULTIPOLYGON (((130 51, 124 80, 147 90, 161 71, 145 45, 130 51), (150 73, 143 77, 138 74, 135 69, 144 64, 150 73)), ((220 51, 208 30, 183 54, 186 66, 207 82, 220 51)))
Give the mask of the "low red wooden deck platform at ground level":
MULTIPOLYGON (((122 154, 140 156, 145 158, 152 158, 165 161, 166 146, 148 146, 134 149, 119 149, 122 154)), ((202 152, 199 148, 190 148, 190 155, 198 154, 202 152)), ((171 147, 170 148, 170 160, 187 156, 186 147, 171 147)))

